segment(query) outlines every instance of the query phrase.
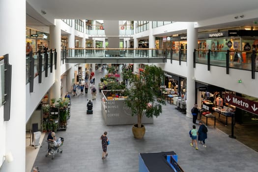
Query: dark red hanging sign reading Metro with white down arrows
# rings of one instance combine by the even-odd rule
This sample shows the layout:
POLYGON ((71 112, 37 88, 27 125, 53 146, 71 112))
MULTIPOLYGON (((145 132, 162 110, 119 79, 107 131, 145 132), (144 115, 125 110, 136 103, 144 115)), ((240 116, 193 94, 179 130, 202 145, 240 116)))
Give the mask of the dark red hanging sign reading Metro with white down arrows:
POLYGON ((225 103, 229 103, 237 108, 243 109, 250 113, 258 115, 258 102, 254 102, 233 94, 225 93, 225 103))

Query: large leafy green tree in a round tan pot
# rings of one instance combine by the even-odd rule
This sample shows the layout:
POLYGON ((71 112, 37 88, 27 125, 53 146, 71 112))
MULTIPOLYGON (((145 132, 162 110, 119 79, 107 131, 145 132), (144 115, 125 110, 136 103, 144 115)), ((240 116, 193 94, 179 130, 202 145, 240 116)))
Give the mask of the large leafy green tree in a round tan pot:
POLYGON ((162 113, 162 105, 165 104, 160 90, 164 72, 160 67, 150 65, 140 73, 124 70, 123 75, 130 83, 130 88, 126 88, 125 104, 138 119, 138 123, 133 126, 133 134, 135 138, 142 139, 145 134, 143 116, 159 116, 162 113))

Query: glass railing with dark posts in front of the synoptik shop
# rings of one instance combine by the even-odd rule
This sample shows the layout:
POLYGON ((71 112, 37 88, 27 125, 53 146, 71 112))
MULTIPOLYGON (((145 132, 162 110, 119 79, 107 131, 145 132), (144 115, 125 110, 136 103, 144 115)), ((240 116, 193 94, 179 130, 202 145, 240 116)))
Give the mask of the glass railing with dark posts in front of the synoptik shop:
POLYGON ((193 65, 206 64, 207 70, 210 70, 210 66, 226 67, 227 74, 229 68, 248 70, 252 73, 252 79, 255 79, 255 72, 258 71, 256 54, 256 51, 195 50, 193 65))

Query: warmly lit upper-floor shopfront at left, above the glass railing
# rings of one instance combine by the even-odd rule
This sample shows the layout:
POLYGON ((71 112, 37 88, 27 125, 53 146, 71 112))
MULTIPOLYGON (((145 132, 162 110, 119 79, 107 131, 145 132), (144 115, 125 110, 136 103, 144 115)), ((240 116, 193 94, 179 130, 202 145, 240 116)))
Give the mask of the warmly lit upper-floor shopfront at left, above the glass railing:
POLYGON ((30 43, 32 51, 43 50, 49 46, 49 34, 26 28, 26 42, 30 43))

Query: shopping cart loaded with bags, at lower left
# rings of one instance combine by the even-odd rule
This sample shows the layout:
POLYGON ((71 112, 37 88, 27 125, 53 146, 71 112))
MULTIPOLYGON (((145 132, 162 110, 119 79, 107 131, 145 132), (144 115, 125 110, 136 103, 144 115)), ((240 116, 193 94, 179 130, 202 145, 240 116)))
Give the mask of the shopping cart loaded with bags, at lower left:
POLYGON ((46 141, 48 143, 48 151, 47 151, 46 157, 52 156, 51 159, 54 159, 55 154, 57 154, 57 152, 62 153, 63 149, 61 148, 61 146, 63 145, 63 141, 64 139, 62 137, 59 137, 55 142, 46 141))

